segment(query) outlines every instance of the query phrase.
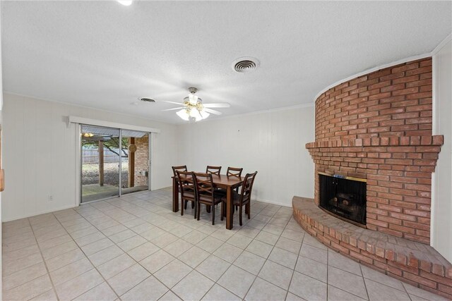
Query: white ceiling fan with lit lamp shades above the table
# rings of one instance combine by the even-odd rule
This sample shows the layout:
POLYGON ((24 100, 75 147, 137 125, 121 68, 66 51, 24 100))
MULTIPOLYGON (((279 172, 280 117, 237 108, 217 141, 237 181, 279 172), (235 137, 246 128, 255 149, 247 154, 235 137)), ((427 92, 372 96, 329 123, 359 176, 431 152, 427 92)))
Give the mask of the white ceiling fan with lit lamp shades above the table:
MULTIPOLYGON (((217 104, 203 104, 201 98, 199 98, 195 93, 198 89, 195 87, 189 87, 189 96, 184 98, 182 106, 173 109, 166 109, 162 111, 177 111, 177 116, 184 119, 184 121, 200 121, 202 119, 208 118, 210 113, 214 115, 221 115, 220 111, 216 111, 210 108, 229 108, 230 104, 227 102, 217 103, 217 104)), ((163 101, 165 102, 165 101, 163 101)), ((178 102, 168 102, 169 104, 179 104, 178 102)))

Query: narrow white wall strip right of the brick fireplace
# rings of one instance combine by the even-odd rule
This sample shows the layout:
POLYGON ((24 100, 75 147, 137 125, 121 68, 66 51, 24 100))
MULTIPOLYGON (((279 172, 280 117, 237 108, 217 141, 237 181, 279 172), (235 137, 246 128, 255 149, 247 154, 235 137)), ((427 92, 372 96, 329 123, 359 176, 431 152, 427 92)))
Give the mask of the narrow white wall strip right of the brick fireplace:
POLYGON ((433 135, 444 135, 433 181, 432 246, 452 262, 452 43, 433 56, 433 135))

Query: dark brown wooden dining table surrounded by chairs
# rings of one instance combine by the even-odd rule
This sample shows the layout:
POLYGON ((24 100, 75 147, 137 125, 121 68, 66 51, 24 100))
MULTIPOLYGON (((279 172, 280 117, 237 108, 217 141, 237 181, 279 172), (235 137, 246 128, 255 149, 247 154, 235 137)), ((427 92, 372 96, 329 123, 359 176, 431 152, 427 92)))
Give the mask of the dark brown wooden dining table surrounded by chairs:
MULTIPOLYGON (((234 214, 232 213, 232 190, 243 185, 244 177, 212 174, 213 185, 226 190, 226 228, 232 229, 234 214)), ((179 183, 172 177, 172 211, 179 211, 179 183)))

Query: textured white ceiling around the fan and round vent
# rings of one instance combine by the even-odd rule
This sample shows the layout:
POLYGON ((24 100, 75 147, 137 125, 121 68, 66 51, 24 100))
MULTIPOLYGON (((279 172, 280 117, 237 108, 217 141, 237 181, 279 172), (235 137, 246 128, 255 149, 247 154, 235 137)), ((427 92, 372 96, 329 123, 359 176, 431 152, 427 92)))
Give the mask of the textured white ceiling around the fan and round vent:
MULTIPOLYGON (((187 88, 224 116, 314 101, 374 66, 432 51, 451 1, 1 1, 5 91, 181 123, 187 88), (232 61, 261 66, 235 73, 232 61), (155 104, 137 102, 138 97, 155 104)), ((209 118, 216 118, 215 116, 209 118)))

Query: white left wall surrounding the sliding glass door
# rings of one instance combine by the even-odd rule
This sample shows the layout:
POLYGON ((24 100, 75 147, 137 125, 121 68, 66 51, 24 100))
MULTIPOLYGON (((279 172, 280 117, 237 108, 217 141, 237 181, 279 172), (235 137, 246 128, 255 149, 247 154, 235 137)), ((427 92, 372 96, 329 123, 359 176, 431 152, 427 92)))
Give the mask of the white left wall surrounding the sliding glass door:
POLYGON ((153 134, 151 142, 151 187, 171 185, 176 125, 4 93, 4 221, 75 206, 78 134, 76 125, 66 126, 69 115, 159 128, 161 133, 153 134))

